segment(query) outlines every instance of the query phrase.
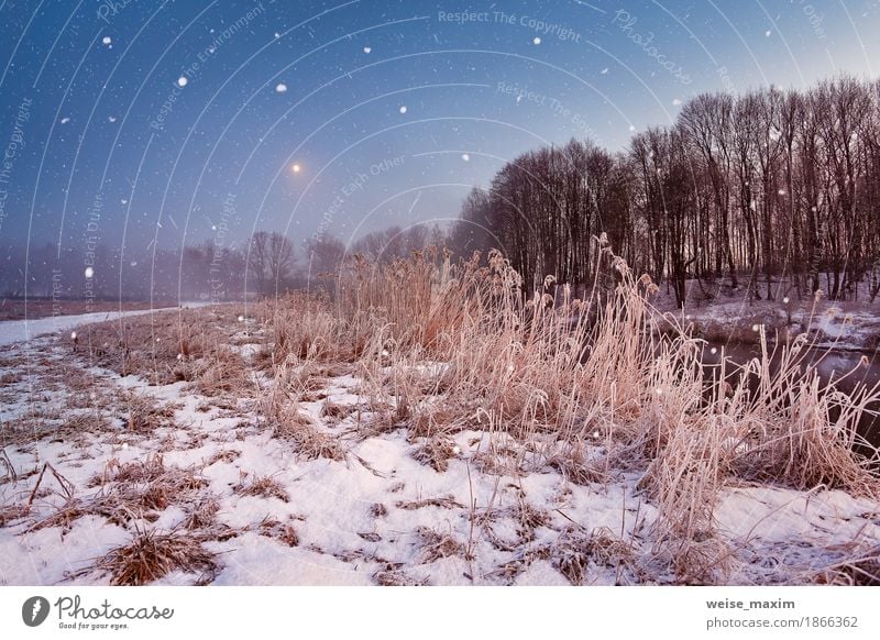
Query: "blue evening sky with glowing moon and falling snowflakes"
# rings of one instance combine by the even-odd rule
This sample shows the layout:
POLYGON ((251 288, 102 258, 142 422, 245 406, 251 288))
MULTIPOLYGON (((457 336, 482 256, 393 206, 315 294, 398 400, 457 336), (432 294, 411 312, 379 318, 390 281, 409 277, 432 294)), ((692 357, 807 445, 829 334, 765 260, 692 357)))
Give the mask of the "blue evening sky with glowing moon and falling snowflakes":
POLYGON ((876 78, 878 32, 858 0, 0 0, 0 247, 446 223, 528 150, 876 78))

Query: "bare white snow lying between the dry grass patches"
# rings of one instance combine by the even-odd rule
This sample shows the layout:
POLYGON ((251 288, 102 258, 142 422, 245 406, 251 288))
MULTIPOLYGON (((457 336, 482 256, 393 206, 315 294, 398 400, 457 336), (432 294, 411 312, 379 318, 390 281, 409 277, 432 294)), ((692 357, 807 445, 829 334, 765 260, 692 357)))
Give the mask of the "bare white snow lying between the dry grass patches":
MULTIPOLYGON (((52 335, 30 336, 108 317, 118 316, 50 318, 25 328, 3 323, 0 336, 8 346, 0 357, 9 362, 0 360, 0 373, 24 373, 26 362, 46 358, 43 362, 50 364, 32 367, 14 388, 46 387, 50 400, 44 406, 64 408, 64 389, 50 389, 41 376, 47 375, 53 362, 72 364, 70 354, 52 335), (25 364, 15 364, 21 360, 25 364)), ((246 357, 254 355, 264 338, 262 329, 253 330, 249 335, 237 321, 229 328, 231 342, 253 340, 241 345, 246 357)), ((165 470, 191 470, 202 482, 167 507, 155 509, 150 519, 141 514, 120 525, 89 514, 67 528, 34 528, 34 522, 65 503, 58 484, 47 475, 31 514, 0 526, 0 584, 108 584, 109 576, 91 570, 97 558, 127 544, 135 528, 185 530, 189 514, 207 499, 218 505, 216 525, 204 531, 201 542, 217 558, 218 569, 210 576, 215 585, 568 585, 570 580, 560 570, 564 553, 560 540, 572 531, 583 539, 604 531, 642 558, 652 558, 656 541, 650 530, 658 511, 638 488, 639 473, 618 473, 604 484, 579 485, 544 465, 539 455, 525 452, 519 472, 513 467, 493 472, 484 464, 487 455, 517 444, 505 434, 480 430, 452 434, 448 467, 437 471, 418 460, 424 439, 410 437, 406 429, 378 433, 363 429, 371 413, 356 373, 326 378, 314 394, 322 399, 302 402, 300 410, 345 451, 343 460, 308 460, 293 443, 274 435, 256 411, 258 398, 240 398, 238 408, 229 410, 215 406, 213 398, 199 395, 186 382, 153 386, 88 363, 79 366, 98 377, 101 389, 125 389, 175 402, 173 426, 129 433, 120 428, 124 407, 111 405, 107 412, 116 417, 117 427, 109 430, 80 433, 74 441, 46 437, 36 443, 6 445, 3 454, 18 479, 0 483, 0 507, 26 501, 35 487, 35 472, 44 463, 69 481, 74 495, 82 499, 108 490, 94 478, 117 468, 113 465, 144 462, 156 454, 162 455, 165 470), (330 422, 322 418, 327 402, 359 410, 330 422), (275 483, 283 497, 241 490, 265 478, 275 483), (516 516, 522 508, 539 515, 525 531, 516 516)), ((411 367, 420 376, 433 377, 443 375, 447 365, 419 362, 411 367)), ((0 421, 26 410, 26 394, 21 398, 3 407, 0 421)), ((65 416, 74 411, 66 409, 65 416)), ((588 450, 586 455, 597 452, 598 448, 588 450)), ((719 538, 732 549, 763 559, 784 554, 796 573, 798 567, 820 569, 835 562, 835 545, 856 539, 880 543, 878 512, 877 501, 843 492, 730 486, 721 493, 715 519, 719 538)), ((592 560, 584 571, 588 584, 638 580, 626 567, 592 560)), ((743 562, 730 580, 772 582, 779 577, 774 572, 743 562)), ((661 582, 672 580, 662 572, 653 575, 661 582)), ((155 584, 189 585, 200 577, 175 571, 155 584)))

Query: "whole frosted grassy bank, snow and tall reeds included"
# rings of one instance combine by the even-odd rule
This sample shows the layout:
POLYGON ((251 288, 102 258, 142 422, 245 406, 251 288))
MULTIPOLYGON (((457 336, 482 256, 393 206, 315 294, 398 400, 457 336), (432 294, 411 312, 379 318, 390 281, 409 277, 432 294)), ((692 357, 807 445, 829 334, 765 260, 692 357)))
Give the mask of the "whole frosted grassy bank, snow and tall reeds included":
POLYGON ((3 349, 8 582, 875 584, 876 390, 706 376, 603 252, 585 299, 424 252, 3 349))

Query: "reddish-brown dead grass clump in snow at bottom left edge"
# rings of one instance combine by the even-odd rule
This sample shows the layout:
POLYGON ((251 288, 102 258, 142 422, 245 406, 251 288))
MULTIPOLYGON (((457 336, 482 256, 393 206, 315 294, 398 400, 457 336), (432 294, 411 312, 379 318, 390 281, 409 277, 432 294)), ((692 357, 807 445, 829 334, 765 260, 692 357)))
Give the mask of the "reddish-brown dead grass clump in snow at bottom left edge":
POLYGON ((112 586, 128 586, 150 584, 174 571, 213 574, 218 564, 191 533, 150 530, 98 559, 92 570, 109 574, 112 586))

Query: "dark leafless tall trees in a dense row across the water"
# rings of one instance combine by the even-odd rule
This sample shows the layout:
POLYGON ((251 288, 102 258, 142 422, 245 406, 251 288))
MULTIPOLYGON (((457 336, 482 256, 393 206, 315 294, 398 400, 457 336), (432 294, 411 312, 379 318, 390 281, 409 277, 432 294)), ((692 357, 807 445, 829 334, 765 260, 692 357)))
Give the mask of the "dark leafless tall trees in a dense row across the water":
POLYGON ((880 81, 703 93, 612 153, 529 151, 474 189, 450 240, 502 249, 529 285, 593 280, 607 242, 637 273, 752 299, 880 291, 880 81), (864 290, 864 287, 862 287, 864 290))

